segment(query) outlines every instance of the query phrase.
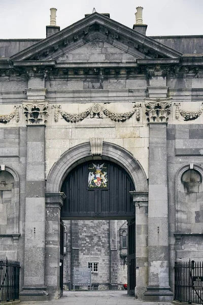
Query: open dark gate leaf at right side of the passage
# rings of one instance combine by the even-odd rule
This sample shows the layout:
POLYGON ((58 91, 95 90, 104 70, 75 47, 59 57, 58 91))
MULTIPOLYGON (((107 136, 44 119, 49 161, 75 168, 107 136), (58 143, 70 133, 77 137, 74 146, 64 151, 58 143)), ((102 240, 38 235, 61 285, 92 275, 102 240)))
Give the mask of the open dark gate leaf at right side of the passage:
POLYGON ((128 255, 127 255, 127 278, 128 278, 128 294, 134 295, 134 287, 136 287, 136 219, 133 218, 127 222, 128 225, 128 255))

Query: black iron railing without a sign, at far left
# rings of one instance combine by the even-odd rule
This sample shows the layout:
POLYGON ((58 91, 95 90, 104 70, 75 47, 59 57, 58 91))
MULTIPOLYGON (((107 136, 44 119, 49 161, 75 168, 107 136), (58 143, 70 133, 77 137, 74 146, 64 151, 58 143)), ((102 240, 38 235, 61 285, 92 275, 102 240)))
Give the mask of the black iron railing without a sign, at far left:
POLYGON ((18 299, 19 274, 19 262, 0 259, 0 301, 18 299))

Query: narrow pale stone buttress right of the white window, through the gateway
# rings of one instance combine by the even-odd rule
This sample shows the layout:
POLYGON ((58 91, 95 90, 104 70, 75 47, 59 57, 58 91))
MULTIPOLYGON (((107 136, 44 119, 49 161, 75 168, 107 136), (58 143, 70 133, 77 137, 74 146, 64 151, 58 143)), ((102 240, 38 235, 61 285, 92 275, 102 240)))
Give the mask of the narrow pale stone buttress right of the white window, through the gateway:
POLYGON ((110 238, 110 289, 118 288, 118 270, 117 270, 117 221, 109 220, 109 238, 110 238))

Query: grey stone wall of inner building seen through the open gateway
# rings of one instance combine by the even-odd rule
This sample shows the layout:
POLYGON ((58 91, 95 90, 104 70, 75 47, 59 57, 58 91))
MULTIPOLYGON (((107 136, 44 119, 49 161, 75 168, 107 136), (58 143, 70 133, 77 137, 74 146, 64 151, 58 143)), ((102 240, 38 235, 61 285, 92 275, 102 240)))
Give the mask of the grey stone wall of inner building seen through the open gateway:
MULTIPOLYGON (((92 267, 91 281, 93 290, 110 289, 111 267, 114 264, 115 289, 122 288, 127 282, 127 222, 123 220, 72 220, 63 221, 65 225, 65 256, 63 285, 73 289, 73 267, 92 267), (113 226, 110 226, 110 222, 113 226), (111 249, 110 230, 116 230, 116 249, 111 249), (125 236, 125 237, 123 237, 125 236), (78 256, 76 247, 72 246, 72 239, 78 242, 78 256), (116 251, 115 261, 111 261, 111 251, 116 251), (91 265, 90 265, 91 264, 91 265)), ((76 246, 76 245, 74 245, 76 246)), ((87 287, 77 287, 87 289, 87 287)), ((89 288, 89 287, 88 287, 89 288)))

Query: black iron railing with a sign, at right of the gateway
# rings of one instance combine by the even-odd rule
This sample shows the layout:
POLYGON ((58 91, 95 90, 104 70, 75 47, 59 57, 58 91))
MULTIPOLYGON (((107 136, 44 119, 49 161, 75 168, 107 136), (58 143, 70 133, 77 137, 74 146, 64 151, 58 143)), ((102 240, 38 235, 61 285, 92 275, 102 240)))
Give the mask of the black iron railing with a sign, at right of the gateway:
POLYGON ((175 262, 175 300, 203 304, 202 277, 203 262, 175 262))

